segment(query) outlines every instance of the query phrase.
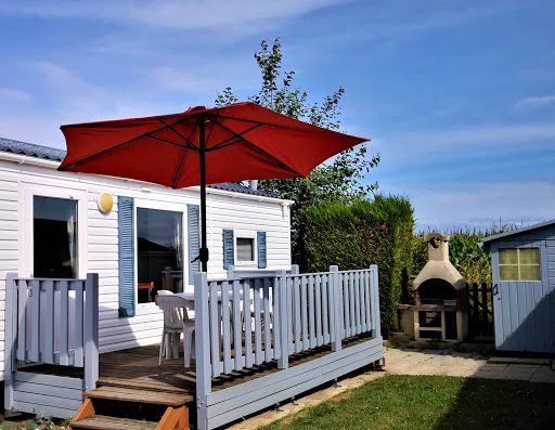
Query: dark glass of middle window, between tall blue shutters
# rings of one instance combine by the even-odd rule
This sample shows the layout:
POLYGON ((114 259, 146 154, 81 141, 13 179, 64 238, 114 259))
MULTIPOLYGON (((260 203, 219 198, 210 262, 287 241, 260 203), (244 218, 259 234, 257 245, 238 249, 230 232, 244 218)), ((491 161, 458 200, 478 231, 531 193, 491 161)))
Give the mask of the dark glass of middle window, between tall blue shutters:
POLYGON ((158 289, 183 290, 182 219, 181 212, 137 208, 139 303, 153 300, 158 289))

